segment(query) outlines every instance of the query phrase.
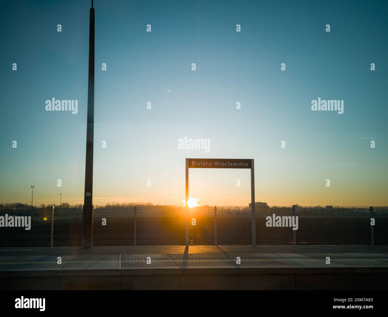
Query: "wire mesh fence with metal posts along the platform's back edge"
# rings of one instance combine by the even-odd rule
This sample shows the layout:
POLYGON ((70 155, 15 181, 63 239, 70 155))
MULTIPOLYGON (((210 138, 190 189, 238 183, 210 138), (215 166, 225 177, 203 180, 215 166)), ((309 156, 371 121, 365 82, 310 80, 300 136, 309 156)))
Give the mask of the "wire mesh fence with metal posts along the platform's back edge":
MULTIPOLYGON (((31 229, 0 227, 2 247, 81 245, 81 207, 2 207, 0 216, 5 217, 5 214, 7 217, 30 216, 31 229)), ((190 208, 189 240, 191 245, 251 245, 251 209, 248 206, 190 208)), ((296 205, 256 208, 256 243, 388 245, 388 207, 296 205), (292 226, 267 226, 268 217, 272 217, 273 214, 286 220, 293 216, 298 217, 298 229, 293 230, 292 226)), ((184 207, 94 208, 95 246, 184 244, 184 207)))

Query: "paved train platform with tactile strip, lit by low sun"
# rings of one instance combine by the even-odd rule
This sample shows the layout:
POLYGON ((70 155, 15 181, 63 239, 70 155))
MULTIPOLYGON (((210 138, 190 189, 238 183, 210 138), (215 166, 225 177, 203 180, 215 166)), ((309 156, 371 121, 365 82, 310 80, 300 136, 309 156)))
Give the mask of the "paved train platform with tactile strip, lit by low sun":
POLYGON ((388 289, 388 246, 0 248, 0 289, 388 289))

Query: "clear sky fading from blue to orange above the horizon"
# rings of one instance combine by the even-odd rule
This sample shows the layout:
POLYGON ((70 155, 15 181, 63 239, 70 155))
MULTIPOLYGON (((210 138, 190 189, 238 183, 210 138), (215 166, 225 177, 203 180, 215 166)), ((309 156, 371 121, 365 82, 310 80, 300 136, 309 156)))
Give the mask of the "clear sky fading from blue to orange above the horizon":
MULTIPOLYGON (((2 2, 0 203, 31 203, 30 185, 34 205, 59 204, 60 193, 83 203, 89 8, 2 2), (52 98, 78 100, 78 113, 46 111, 52 98)), ((388 2, 94 8, 94 204, 180 205, 185 158, 225 158, 255 160, 256 202, 388 205, 388 2), (343 100, 343 114, 312 111, 318 98, 343 100), (210 139, 210 151, 179 149, 185 137, 210 139)), ((189 195, 248 205, 250 171, 191 169, 189 195)))

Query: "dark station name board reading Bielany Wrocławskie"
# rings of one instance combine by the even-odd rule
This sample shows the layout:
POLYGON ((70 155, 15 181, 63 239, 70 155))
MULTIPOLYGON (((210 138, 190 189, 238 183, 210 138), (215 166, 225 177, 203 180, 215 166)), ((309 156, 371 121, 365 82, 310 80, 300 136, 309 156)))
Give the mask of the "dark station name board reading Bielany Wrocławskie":
POLYGON ((188 159, 189 168, 208 169, 250 169, 250 159, 188 159))

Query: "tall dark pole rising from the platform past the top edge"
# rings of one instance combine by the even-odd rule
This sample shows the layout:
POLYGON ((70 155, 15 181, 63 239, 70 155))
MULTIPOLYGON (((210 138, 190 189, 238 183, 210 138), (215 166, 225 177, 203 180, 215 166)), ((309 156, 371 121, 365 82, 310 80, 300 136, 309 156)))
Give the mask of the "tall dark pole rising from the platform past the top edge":
POLYGON ((89 77, 88 116, 86 128, 85 194, 82 212, 83 249, 92 247, 93 238, 93 139, 94 139, 94 8, 93 0, 89 14, 89 77))

